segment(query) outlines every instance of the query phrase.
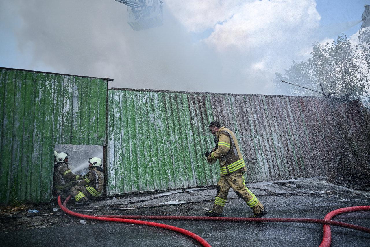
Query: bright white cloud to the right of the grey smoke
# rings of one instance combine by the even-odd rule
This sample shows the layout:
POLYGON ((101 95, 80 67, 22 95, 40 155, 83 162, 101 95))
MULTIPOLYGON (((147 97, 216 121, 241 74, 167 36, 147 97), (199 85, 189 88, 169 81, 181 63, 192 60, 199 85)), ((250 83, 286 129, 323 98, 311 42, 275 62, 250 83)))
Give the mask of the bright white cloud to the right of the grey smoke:
MULTIPOLYGON (((293 59, 309 56, 309 52, 302 53, 302 50, 312 49, 312 43, 316 41, 314 33, 321 19, 316 2, 262 0, 239 1, 236 5, 238 8, 225 11, 218 20, 211 16, 198 25, 187 16, 179 19, 187 29, 201 31, 199 27, 211 26, 209 20, 220 22, 231 16, 222 23, 214 23, 214 32, 203 42, 213 47, 222 60, 228 61, 222 70, 225 77, 229 71, 240 73, 238 83, 242 90, 259 89, 261 93, 273 93, 270 78, 274 73, 289 66, 293 59)), ((191 6, 194 9, 189 13, 193 16, 206 15, 207 10, 191 6)))

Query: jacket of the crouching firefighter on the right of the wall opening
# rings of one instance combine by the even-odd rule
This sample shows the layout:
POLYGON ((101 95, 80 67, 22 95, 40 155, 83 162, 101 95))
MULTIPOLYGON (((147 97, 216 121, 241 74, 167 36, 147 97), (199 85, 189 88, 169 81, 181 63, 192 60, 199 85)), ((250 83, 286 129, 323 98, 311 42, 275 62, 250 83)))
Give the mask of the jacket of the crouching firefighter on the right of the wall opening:
POLYGON ((103 191, 104 175, 98 167, 92 168, 86 175, 83 176, 83 180, 78 182, 76 187, 84 186, 86 190, 94 197, 100 197, 103 191))

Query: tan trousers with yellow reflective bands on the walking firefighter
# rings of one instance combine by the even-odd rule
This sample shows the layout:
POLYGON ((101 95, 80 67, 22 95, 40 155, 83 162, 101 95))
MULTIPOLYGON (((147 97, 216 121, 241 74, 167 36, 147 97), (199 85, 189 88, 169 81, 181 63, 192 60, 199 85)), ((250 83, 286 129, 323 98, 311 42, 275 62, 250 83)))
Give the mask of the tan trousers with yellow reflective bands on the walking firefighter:
POLYGON ((230 187, 238 197, 242 198, 252 208, 253 213, 259 214, 264 208, 257 197, 245 186, 242 172, 235 172, 230 175, 221 176, 217 183, 217 195, 212 211, 221 214, 226 203, 230 187))

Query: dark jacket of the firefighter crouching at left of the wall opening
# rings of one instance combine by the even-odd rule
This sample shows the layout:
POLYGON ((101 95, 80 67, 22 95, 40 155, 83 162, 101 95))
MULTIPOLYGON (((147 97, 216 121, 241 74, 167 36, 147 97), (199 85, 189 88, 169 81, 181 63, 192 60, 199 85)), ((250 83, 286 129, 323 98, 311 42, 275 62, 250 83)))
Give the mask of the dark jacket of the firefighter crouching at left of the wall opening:
POLYGON ((75 180, 80 180, 81 176, 74 174, 65 163, 57 163, 54 166, 54 188, 57 190, 65 190, 74 186, 75 180))

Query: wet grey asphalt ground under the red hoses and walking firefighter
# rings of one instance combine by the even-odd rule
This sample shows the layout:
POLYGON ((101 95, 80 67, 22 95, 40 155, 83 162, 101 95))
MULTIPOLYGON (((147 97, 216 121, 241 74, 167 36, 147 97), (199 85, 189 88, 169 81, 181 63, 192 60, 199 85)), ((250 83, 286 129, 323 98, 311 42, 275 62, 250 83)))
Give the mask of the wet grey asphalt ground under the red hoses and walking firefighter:
MULTIPOLYGON (((325 178, 307 178, 247 184, 268 210, 269 218, 324 218, 332 210, 370 205, 370 193, 327 184, 325 178)), ((159 194, 125 196, 90 204, 68 206, 85 214, 203 216, 212 208, 215 188, 196 188, 159 194), (177 201, 176 201, 177 200, 177 201), (91 210, 91 211, 85 211, 91 210)), ((223 216, 248 217, 252 210, 229 191, 223 216)), ((55 202, 39 205, 38 220, 28 213, 1 214, 2 246, 198 246, 191 238, 161 228, 75 218, 58 210, 55 202), (48 211, 49 210, 49 211, 48 211), (50 213, 53 212, 53 213, 50 213), (19 216, 20 215, 20 216, 19 216), (23 216, 22 216, 23 215, 23 216), (9 217, 20 217, 9 219, 9 217), (7 219, 4 219, 8 217, 7 219), (24 220, 24 218, 28 221, 24 220), (43 218, 44 217, 44 218, 43 218), (35 219, 35 220, 32 220, 35 219)), ((25 210, 23 210, 25 211, 25 210)), ((333 220, 370 227, 370 211, 338 215, 333 220)), ((155 221, 192 231, 211 246, 319 246, 320 224, 235 223, 219 221, 155 221)), ((370 234, 331 227, 332 246, 370 246, 370 234)))

